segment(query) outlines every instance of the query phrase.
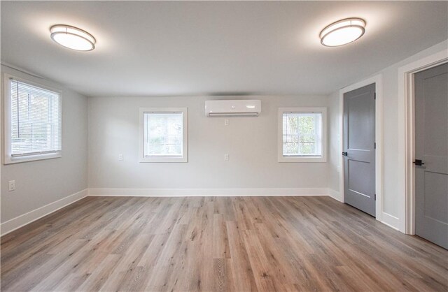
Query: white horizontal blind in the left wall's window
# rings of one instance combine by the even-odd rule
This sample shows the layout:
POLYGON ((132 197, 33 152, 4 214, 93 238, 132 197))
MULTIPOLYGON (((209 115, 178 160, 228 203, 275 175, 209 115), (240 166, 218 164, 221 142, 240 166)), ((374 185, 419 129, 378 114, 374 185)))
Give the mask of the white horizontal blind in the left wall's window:
POLYGON ((10 79, 10 155, 61 152, 59 93, 10 79))

